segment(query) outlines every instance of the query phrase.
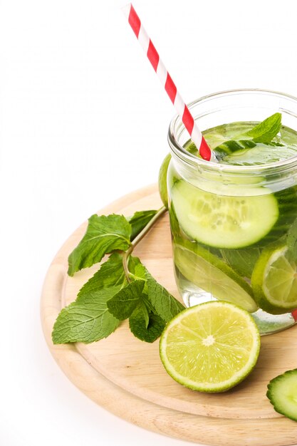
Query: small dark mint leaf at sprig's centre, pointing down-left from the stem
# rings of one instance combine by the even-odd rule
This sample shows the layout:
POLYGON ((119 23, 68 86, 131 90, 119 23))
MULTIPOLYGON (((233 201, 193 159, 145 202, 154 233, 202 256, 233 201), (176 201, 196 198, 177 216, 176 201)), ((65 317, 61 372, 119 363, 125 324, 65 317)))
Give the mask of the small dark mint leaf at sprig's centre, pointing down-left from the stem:
POLYGON ((145 281, 134 280, 118 291, 107 303, 108 310, 120 321, 127 319, 139 304, 145 281))

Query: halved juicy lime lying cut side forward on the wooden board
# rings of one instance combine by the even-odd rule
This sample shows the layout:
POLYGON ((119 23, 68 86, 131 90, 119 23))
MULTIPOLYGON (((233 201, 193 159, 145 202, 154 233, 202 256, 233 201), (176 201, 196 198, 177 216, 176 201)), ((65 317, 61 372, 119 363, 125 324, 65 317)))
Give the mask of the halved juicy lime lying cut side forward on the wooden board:
POLYGON ((187 308, 167 324, 160 357, 178 383, 200 392, 224 392, 253 370, 260 335, 251 315, 224 301, 187 308))

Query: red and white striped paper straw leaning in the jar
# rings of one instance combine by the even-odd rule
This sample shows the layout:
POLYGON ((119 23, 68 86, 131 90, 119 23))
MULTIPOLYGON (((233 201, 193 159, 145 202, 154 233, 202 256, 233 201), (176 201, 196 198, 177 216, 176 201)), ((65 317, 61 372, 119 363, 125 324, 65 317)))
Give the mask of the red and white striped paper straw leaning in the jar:
POLYGON ((157 53, 155 46, 152 44, 150 37, 147 35, 147 32, 145 31, 145 28, 143 27, 140 18, 137 16, 136 11, 132 6, 132 3, 123 6, 122 9, 125 16, 127 17, 127 20, 132 30, 135 33, 135 36, 137 37, 140 45, 142 46, 142 49, 147 54, 147 58, 152 64, 152 68, 154 68, 158 78, 160 79, 162 85, 165 87, 165 90, 167 91, 167 95, 170 97, 174 107, 176 108, 177 113, 182 118, 184 127, 189 132, 192 141, 199 150, 199 154, 204 160, 215 161, 215 157, 212 153, 212 150, 210 150, 209 145, 207 145, 206 140, 204 140, 204 137, 200 132, 199 128, 197 127, 194 118, 189 112, 189 108, 187 108, 187 105, 184 103, 182 96, 177 91, 177 87, 172 81, 170 73, 168 73, 164 63, 161 61, 160 56, 157 53))

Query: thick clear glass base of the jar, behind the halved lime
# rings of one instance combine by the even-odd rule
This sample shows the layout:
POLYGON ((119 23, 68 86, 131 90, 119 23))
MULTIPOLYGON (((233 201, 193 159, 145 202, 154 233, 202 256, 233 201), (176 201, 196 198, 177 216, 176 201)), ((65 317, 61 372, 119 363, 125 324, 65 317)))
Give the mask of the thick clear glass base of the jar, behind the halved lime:
MULTIPOLYGON (((212 294, 206 291, 184 291, 181 293, 185 306, 195 306, 202 304, 203 302, 216 301, 212 294)), ((291 313, 285 314, 270 314, 259 309, 255 313, 252 313, 254 321, 259 328, 261 336, 277 333, 278 331, 286 330, 295 325, 296 321, 291 313)))

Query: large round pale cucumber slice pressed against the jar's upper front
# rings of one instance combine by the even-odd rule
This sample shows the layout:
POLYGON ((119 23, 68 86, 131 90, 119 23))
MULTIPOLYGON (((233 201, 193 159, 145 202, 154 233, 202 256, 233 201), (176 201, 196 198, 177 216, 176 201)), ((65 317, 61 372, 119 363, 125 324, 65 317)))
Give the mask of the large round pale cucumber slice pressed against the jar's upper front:
POLYGON ((244 190, 242 194, 218 195, 180 180, 172 187, 172 202, 188 237, 210 247, 234 249, 259 242, 278 219, 278 202, 267 189, 255 186, 253 196, 244 196, 244 190))

